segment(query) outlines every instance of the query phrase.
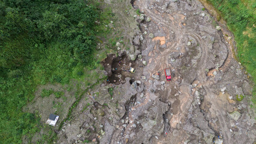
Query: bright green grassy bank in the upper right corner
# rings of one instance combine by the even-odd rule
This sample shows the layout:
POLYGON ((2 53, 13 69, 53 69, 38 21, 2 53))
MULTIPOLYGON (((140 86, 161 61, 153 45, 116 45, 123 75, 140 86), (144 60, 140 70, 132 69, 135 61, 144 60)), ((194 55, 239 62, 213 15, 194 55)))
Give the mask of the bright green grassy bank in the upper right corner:
MULTIPOLYGON (((237 43, 239 61, 256 83, 256 2, 253 0, 207 0, 221 11, 237 43)), ((255 103, 256 88, 252 92, 255 103)))

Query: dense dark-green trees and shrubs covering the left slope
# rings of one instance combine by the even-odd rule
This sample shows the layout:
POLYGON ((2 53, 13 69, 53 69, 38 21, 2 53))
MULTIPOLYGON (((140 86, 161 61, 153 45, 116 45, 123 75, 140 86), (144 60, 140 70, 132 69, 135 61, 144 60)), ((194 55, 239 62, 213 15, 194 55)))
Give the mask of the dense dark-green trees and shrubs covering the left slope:
MULTIPOLYGON (((39 130, 40 117, 22 111, 38 85, 67 84, 99 67, 97 35, 110 31, 105 25, 111 9, 98 6, 83 0, 0 1, 1 143, 22 143, 22 136, 30 140, 39 130)), ((43 89, 41 97, 50 94, 59 98, 63 92, 43 89)))

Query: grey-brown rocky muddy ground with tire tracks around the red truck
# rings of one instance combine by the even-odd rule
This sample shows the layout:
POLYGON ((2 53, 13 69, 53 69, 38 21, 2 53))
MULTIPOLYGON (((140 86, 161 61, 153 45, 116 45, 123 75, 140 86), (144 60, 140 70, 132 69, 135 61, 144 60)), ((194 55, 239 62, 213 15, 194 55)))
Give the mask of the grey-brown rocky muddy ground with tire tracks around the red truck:
POLYGON ((83 96, 55 143, 255 143, 252 87, 225 25, 216 29, 199 1, 105 2, 129 43, 102 62, 108 80, 83 96), (135 74, 121 70, 130 63, 135 74))

